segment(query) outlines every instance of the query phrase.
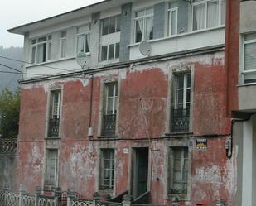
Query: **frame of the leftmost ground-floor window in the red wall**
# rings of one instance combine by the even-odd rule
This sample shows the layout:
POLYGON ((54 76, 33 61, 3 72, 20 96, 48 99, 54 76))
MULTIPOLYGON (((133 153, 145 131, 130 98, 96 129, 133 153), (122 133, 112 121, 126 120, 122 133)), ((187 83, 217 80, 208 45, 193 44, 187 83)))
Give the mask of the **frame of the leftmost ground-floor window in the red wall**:
POLYGON ((58 162, 59 162, 58 156, 59 156, 59 150, 58 149, 56 149, 56 148, 47 148, 46 149, 46 161, 45 161, 46 167, 45 167, 44 186, 55 187, 57 185, 57 180, 58 180, 58 162), (54 184, 46 184, 47 182, 51 181, 51 178, 50 178, 51 174, 48 174, 49 166, 51 166, 51 165, 48 165, 48 158, 49 158, 49 152, 50 151, 55 151, 56 152, 56 154, 55 154, 55 174, 54 174, 54 181, 55 181, 55 183, 54 184))

